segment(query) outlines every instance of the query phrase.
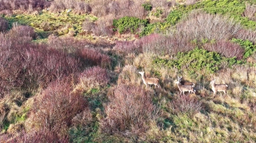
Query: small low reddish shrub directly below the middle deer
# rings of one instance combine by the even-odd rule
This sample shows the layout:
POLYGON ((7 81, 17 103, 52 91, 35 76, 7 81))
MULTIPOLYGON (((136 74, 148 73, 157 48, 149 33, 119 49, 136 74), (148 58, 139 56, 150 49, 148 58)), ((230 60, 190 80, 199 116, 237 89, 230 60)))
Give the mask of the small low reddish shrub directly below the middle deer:
POLYGON ((195 115, 195 113, 200 112, 202 109, 202 103, 197 101, 196 98, 190 97, 188 95, 181 95, 175 97, 168 104, 171 112, 174 114, 187 114, 189 116, 195 115))

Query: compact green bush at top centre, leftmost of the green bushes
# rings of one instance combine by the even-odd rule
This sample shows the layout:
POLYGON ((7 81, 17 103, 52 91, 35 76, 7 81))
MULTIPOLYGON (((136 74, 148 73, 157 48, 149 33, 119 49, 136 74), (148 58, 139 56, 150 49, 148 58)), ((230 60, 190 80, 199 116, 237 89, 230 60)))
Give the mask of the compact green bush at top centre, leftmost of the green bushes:
POLYGON ((122 17, 121 19, 114 19, 113 20, 113 26, 114 31, 118 31, 120 34, 130 31, 131 33, 135 33, 135 31, 140 26, 146 26, 148 24, 147 19, 138 19, 135 17, 122 17))

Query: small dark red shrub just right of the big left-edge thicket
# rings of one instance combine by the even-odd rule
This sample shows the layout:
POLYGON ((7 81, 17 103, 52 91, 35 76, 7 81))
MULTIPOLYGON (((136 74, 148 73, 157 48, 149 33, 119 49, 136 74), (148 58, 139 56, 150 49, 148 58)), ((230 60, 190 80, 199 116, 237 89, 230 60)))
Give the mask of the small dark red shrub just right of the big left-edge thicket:
POLYGON ((99 50, 91 48, 83 48, 77 50, 77 55, 83 60, 87 66, 111 67, 111 59, 105 54, 101 54, 99 50))

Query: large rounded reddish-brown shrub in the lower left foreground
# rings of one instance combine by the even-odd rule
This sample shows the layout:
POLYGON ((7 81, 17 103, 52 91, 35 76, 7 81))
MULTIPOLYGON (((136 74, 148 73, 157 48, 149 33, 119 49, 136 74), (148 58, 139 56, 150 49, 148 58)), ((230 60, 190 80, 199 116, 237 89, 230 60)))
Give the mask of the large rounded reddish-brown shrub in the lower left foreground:
POLYGON ((32 126, 47 128, 63 137, 76 114, 87 108, 84 97, 72 92, 66 81, 54 82, 36 98, 30 115, 32 126))

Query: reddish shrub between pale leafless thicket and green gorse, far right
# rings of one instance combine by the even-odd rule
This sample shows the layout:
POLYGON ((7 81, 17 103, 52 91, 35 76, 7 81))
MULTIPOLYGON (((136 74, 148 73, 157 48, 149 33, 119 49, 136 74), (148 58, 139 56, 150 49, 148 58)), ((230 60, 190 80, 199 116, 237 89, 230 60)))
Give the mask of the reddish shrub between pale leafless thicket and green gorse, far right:
POLYGON ((216 51, 225 57, 234 57, 241 60, 243 58, 244 49, 239 44, 230 41, 218 41, 214 44, 208 43, 203 46, 205 50, 216 51))

